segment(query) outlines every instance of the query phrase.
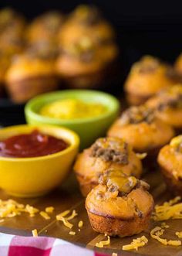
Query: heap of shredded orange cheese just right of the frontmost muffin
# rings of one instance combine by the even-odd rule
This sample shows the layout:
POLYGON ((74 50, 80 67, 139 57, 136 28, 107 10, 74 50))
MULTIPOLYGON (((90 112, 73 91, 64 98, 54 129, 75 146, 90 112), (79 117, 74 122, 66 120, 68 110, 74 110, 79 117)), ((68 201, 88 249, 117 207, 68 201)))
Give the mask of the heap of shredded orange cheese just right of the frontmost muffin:
POLYGON ((153 213, 153 220, 181 219, 182 203, 178 203, 180 200, 180 196, 177 196, 173 200, 163 203, 163 205, 157 205, 153 213))

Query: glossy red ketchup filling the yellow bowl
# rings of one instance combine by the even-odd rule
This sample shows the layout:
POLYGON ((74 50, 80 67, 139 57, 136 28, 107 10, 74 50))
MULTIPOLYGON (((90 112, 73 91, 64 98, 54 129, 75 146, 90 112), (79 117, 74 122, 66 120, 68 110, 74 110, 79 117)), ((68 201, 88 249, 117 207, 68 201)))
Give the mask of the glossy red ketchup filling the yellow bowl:
POLYGON ((30 134, 15 135, 0 142, 0 156, 13 158, 51 155, 68 147, 60 138, 35 130, 30 134))

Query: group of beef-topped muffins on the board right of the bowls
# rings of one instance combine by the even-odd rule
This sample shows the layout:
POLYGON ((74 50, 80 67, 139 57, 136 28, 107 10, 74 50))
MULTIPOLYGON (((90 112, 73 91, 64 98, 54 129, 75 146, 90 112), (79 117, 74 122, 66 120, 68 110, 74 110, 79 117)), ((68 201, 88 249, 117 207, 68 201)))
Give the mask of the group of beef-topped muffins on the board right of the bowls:
POLYGON ((106 138, 77 156, 76 179, 99 233, 126 237, 147 229, 153 197, 140 179, 143 172, 160 168, 167 189, 182 196, 180 58, 174 68, 152 56, 134 64, 125 84, 131 106, 106 138))

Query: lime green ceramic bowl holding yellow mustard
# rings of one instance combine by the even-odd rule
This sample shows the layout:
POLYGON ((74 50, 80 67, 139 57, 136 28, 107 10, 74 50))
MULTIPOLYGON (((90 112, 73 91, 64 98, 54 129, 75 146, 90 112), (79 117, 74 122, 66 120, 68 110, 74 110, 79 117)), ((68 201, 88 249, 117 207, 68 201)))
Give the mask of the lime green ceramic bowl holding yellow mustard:
POLYGON ((70 128, 79 135, 81 148, 91 145, 96 138, 106 135, 106 130, 116 119, 120 111, 120 103, 110 94, 97 90, 61 90, 42 94, 25 105, 25 118, 31 125, 59 125, 70 128), (48 118, 39 114, 43 105, 60 99, 79 99, 87 102, 99 102, 106 106, 106 112, 93 118, 63 120, 48 118))

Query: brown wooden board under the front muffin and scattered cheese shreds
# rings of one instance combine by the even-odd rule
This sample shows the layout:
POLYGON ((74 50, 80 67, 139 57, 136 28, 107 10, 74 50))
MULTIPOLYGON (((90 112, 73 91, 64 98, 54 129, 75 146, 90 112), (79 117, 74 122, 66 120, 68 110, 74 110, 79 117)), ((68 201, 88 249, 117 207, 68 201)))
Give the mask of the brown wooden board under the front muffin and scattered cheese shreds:
MULTIPOLYGON (((163 179, 160 176, 160 172, 150 172, 143 176, 143 179, 150 183, 150 192, 153 194, 156 203, 163 203, 165 200, 169 200, 173 196, 166 191, 166 186, 163 183, 163 179)), ((6 200, 10 198, 3 191, 0 191, 0 198, 6 200)), ((11 197, 12 198, 12 197, 11 197)), ((31 230, 37 229, 39 235, 59 237, 66 241, 70 241, 75 244, 79 244, 83 247, 88 247, 96 251, 103 251, 108 254, 116 252, 124 255, 157 255, 157 256, 180 256, 182 255, 182 247, 164 246, 158 241, 150 238, 149 232, 152 227, 155 227, 156 223, 151 223, 150 229, 143 234, 149 239, 148 244, 145 247, 140 247, 138 251, 122 251, 123 244, 129 244, 133 238, 140 237, 143 234, 133 237, 112 237, 111 244, 109 247, 102 249, 96 248, 96 242, 106 239, 103 234, 97 234, 92 230, 89 224, 89 219, 86 214, 84 207, 84 198, 79 193, 79 188, 76 183, 74 175, 71 175, 66 183, 60 189, 52 192, 48 196, 41 198, 22 200, 15 199, 19 203, 29 203, 30 205, 44 210, 45 207, 55 207, 55 212, 52 213, 51 220, 45 220, 39 214, 36 217, 29 217, 28 214, 22 214, 18 217, 6 218, 5 222, 0 224, 0 232, 8 234, 19 234, 19 235, 32 235, 31 230), (63 226, 59 221, 56 221, 56 214, 64 210, 76 210, 78 217, 75 217, 71 222, 74 224, 72 230, 76 231, 76 235, 72 236, 69 234, 69 229, 63 226), (84 226, 78 230, 78 222, 83 220, 84 226)), ((182 230, 182 220, 169 220, 166 221, 170 225, 165 231, 165 237, 168 239, 175 239, 175 232, 182 230)))

